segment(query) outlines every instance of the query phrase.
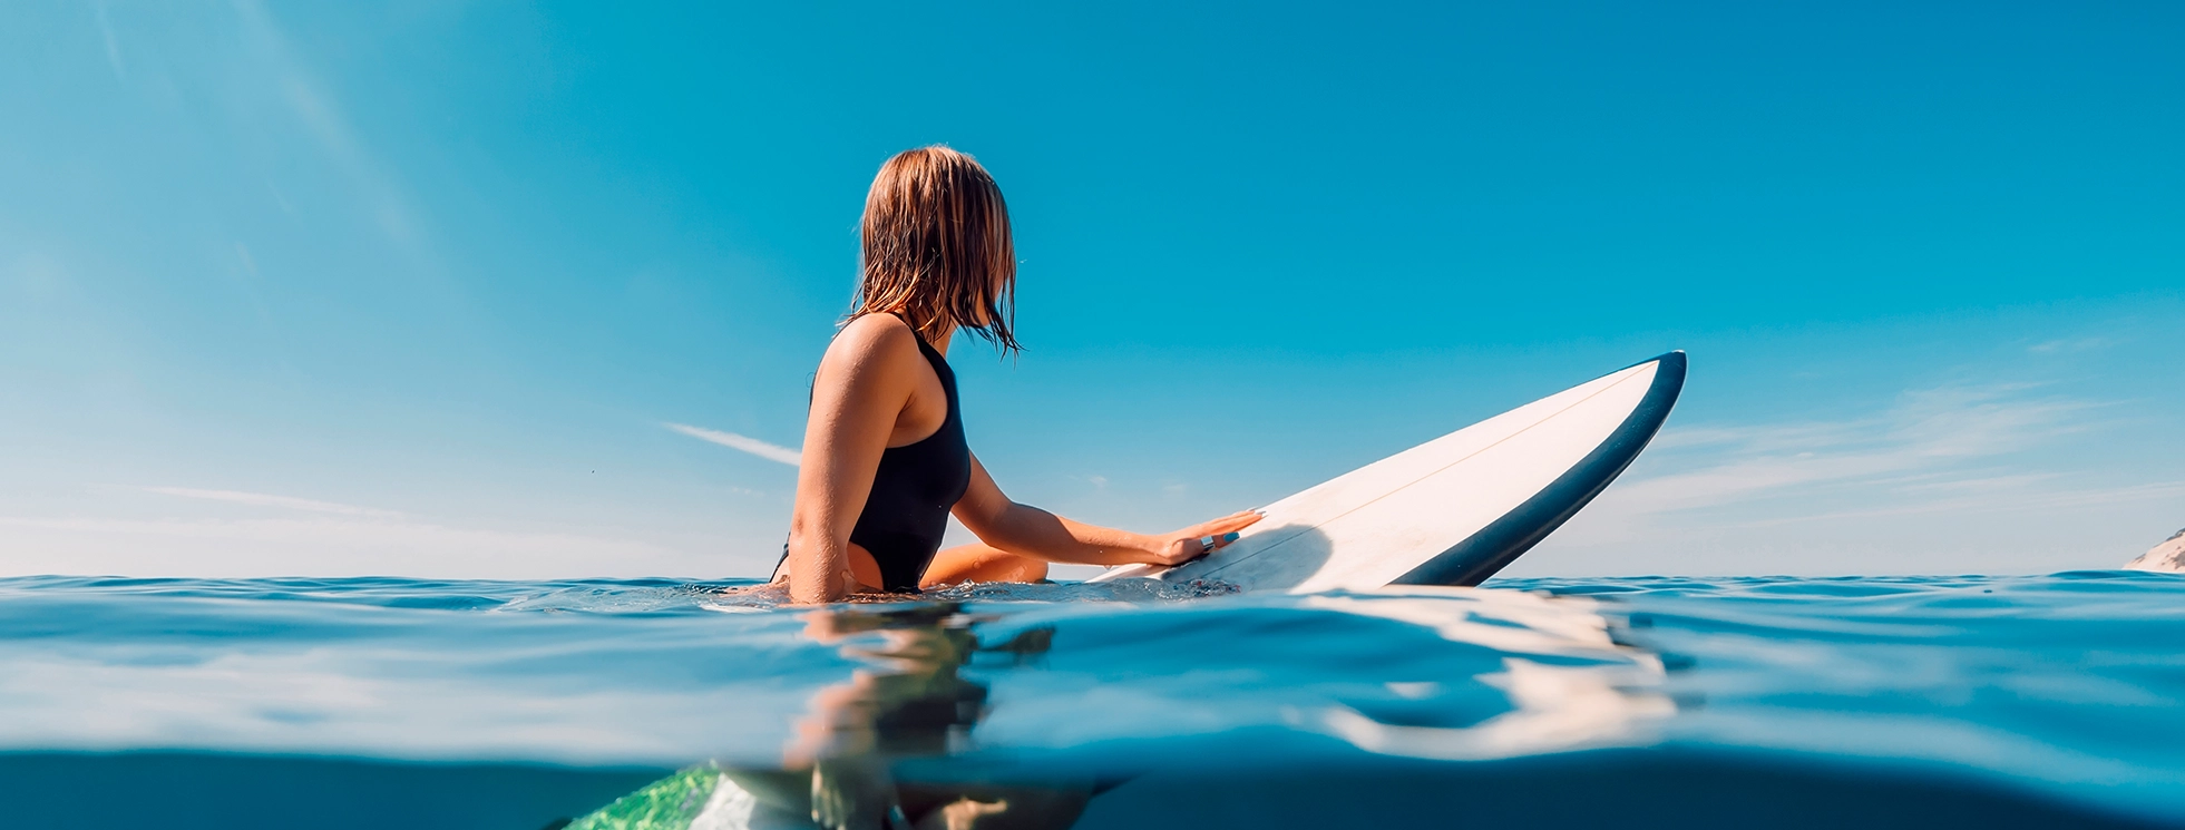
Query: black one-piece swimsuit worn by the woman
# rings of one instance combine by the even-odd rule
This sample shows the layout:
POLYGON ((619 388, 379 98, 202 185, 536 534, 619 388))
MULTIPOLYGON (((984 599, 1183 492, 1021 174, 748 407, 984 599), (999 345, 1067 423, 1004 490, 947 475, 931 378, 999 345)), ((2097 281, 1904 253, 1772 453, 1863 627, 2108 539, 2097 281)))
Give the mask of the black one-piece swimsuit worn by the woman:
MULTIPOLYGON (((948 511, 970 489, 970 443, 964 441, 955 371, 924 336, 918 336, 918 352, 942 380, 948 417, 926 439, 881 452, 865 511, 857 513, 857 526, 850 529, 850 542, 872 553, 881 566, 881 588, 889 592, 918 592, 918 579, 942 548, 948 511)), ((789 559, 787 544, 782 559, 789 559)))

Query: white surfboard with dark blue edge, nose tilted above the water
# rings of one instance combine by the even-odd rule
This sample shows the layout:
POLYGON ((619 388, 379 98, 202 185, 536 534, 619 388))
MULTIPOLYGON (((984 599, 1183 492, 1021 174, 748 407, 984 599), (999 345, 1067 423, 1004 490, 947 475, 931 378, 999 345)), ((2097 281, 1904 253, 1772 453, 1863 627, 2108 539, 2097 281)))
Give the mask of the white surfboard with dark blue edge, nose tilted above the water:
POLYGON ((1219 579, 1318 592, 1477 585, 1599 496, 1685 389, 1685 352, 1564 389, 1265 507, 1204 559, 1092 581, 1219 579))

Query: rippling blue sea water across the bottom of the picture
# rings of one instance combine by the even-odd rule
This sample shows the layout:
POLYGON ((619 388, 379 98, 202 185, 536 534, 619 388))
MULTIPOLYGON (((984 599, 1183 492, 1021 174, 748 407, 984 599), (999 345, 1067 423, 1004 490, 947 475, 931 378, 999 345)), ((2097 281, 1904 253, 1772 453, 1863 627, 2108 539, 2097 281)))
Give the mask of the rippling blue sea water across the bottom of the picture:
POLYGON ((734 588, 0 579, 0 826, 2185 826, 2176 574, 734 588))

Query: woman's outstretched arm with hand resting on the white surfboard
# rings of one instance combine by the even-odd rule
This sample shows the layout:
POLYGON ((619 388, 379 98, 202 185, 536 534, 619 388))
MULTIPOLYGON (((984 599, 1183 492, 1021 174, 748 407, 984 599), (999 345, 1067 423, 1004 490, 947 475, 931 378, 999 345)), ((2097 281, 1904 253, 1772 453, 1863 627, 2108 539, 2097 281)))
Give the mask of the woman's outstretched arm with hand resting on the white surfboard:
POLYGON ((979 456, 970 459, 970 489, 957 500, 955 518, 994 548, 1020 557, 1066 561, 1079 566, 1154 564, 1178 566, 1197 559, 1208 548, 1200 537, 1215 537, 1215 548, 1230 544, 1235 533, 1259 522, 1256 511, 1217 518, 1173 533, 1130 533, 1084 522, 1071 522, 1031 505, 1012 502, 985 474, 979 456))

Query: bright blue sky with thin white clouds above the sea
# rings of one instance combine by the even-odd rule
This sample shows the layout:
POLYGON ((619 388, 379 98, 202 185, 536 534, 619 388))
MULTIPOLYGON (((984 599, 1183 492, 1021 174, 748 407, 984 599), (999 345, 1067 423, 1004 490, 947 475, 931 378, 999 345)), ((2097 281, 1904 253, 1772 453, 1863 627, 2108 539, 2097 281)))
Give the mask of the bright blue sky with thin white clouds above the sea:
MULTIPOLYGON (((0 574, 758 577, 887 155, 1003 489, 1167 531, 1687 349, 1508 570, 2185 526, 2170 2, 0 9, 0 574)), ((964 537, 957 531, 957 537, 964 537)))

